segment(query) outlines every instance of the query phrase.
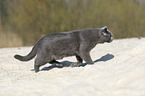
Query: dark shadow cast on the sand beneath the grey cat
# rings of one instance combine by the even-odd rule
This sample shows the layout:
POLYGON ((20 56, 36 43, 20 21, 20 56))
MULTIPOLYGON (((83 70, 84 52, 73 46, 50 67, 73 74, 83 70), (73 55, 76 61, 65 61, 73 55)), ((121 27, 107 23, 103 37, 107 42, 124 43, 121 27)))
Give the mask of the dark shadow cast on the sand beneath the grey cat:
MULTIPOLYGON (((105 62, 105 61, 111 60, 113 58, 114 58, 114 55, 112 55, 112 54, 106 54, 106 55, 102 56, 100 59, 95 60, 94 62, 95 63, 96 62, 100 62, 100 61, 104 61, 105 62)), ((63 61, 61 63, 63 64, 64 67, 72 67, 72 65, 75 64, 76 62, 63 61)), ((87 63, 83 63, 80 67, 85 67, 86 65, 87 65, 87 63)), ((51 70, 53 68, 59 68, 59 67, 57 67, 55 65, 51 65, 49 67, 42 68, 41 71, 49 71, 49 70, 51 70)))

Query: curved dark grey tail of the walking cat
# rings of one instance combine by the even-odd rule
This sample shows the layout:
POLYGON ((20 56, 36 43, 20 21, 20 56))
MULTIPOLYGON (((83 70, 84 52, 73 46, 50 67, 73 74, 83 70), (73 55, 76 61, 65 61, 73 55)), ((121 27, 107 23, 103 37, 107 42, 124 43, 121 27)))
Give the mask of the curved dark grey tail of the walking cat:
POLYGON ((37 44, 34 45, 34 47, 32 48, 31 52, 28 55, 26 56, 15 55, 14 58, 20 61, 29 61, 36 56, 36 53, 37 53, 37 44))

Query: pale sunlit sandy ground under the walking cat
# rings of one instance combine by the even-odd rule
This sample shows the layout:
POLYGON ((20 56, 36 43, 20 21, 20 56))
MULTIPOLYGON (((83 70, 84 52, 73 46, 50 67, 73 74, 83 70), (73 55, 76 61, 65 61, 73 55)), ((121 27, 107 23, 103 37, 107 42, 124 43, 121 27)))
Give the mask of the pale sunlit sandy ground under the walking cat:
POLYGON ((34 59, 20 62, 32 47, 0 49, 0 96, 145 96, 145 38, 120 39, 97 45, 94 65, 72 68, 75 57, 47 64, 39 73, 34 59))

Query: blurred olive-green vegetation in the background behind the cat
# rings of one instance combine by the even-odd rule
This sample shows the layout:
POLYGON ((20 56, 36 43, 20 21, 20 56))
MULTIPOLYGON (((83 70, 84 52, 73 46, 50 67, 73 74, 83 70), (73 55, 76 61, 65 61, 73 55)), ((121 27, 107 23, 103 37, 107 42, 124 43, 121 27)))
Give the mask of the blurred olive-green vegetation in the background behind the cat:
POLYGON ((137 0, 0 0, 0 35, 16 34, 26 46, 45 34, 107 25, 114 38, 144 37, 144 10, 137 0))

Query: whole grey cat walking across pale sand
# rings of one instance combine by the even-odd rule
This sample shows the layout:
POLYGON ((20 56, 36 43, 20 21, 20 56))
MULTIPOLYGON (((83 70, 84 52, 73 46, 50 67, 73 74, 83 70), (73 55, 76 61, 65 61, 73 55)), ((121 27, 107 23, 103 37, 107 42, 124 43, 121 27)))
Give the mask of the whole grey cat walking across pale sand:
POLYGON ((36 42, 27 56, 15 55, 14 57, 21 61, 28 61, 37 55, 34 64, 35 72, 39 72, 39 67, 46 63, 63 67, 56 60, 67 56, 76 56, 78 62, 75 66, 80 66, 83 60, 93 64, 90 57, 91 49, 98 43, 110 43, 112 40, 112 33, 106 26, 48 34, 36 42))

